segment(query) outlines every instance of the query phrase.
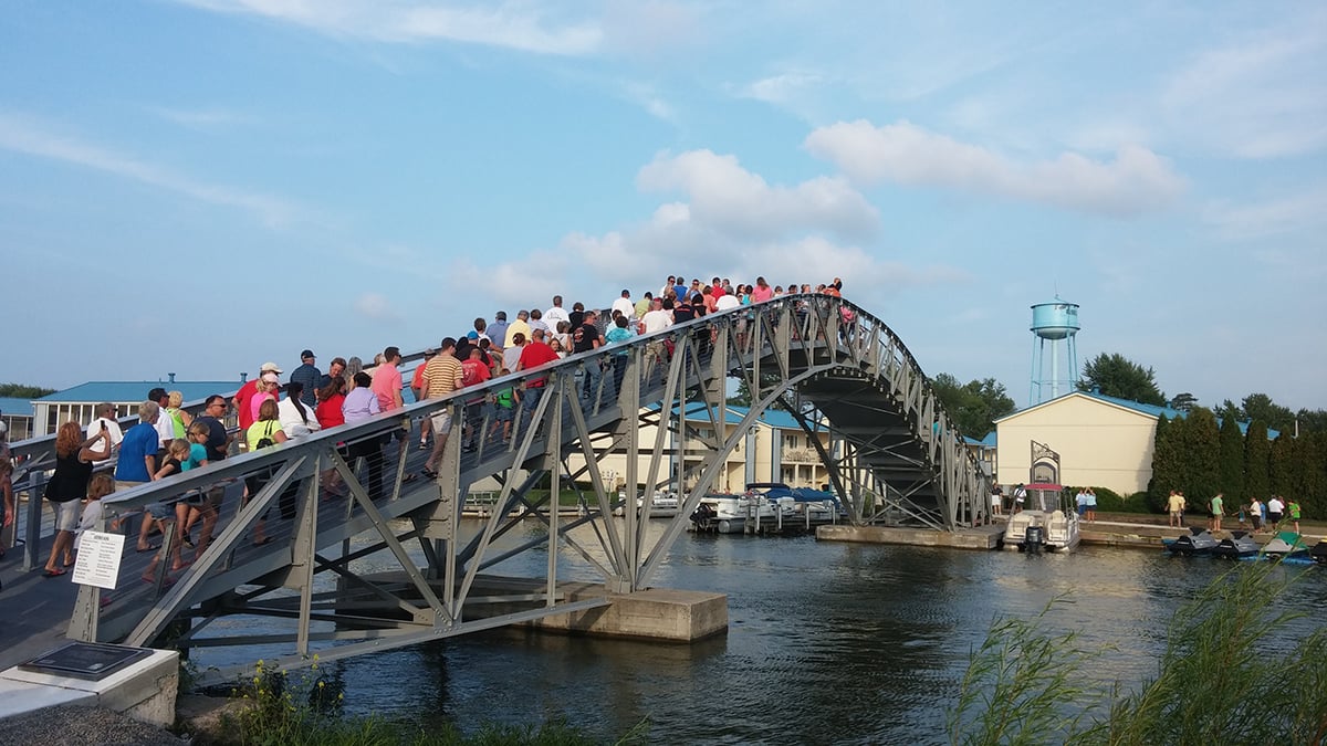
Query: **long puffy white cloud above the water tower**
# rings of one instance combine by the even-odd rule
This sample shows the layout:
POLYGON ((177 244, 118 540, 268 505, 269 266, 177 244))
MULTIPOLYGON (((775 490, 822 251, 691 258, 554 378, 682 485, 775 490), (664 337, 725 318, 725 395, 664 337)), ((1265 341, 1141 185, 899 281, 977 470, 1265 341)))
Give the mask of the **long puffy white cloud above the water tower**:
POLYGON ((955 188, 1107 215, 1165 207, 1185 188, 1169 163, 1145 147, 1120 147, 1109 163, 1078 153, 1020 163, 906 121, 881 127, 839 122, 812 131, 805 147, 859 183, 955 188))

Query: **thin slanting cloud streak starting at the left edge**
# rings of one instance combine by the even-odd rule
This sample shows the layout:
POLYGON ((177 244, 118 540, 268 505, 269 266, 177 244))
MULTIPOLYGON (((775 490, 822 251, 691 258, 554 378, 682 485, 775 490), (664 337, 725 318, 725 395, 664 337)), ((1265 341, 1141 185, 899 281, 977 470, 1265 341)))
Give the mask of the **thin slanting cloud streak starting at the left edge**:
POLYGON ((163 166, 56 134, 53 129, 46 122, 0 113, 0 150, 73 163, 211 204, 239 207, 253 212, 268 226, 288 224, 299 212, 293 204, 283 199, 200 182, 163 166))

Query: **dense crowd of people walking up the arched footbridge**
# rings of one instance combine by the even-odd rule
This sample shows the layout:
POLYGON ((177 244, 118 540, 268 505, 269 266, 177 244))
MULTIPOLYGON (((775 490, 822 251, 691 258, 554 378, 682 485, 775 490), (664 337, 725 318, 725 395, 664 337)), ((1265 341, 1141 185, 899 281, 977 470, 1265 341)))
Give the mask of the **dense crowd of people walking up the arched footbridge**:
MULTIPOLYGON (((138 405, 138 423, 126 431, 121 431, 113 405, 98 405, 96 418, 86 431, 76 422, 65 422, 56 438, 56 470, 44 494, 56 512, 56 540, 45 564, 45 575, 57 577, 72 567, 82 532, 102 520, 102 498, 117 490, 170 479, 223 461, 235 441, 240 450, 261 450, 401 409, 406 405, 403 392, 407 388, 417 401, 438 398, 491 378, 536 369, 568 354, 604 345, 621 345, 637 335, 660 332, 707 313, 790 293, 839 296, 841 288, 843 281, 837 277, 815 288, 809 284, 790 284, 784 288, 771 285, 764 277, 756 277, 751 284, 734 285, 721 277, 714 277, 710 283, 699 279, 687 283, 681 275, 670 275, 658 291, 645 292, 640 299, 633 299, 630 291, 624 289, 602 312, 587 308, 583 303, 573 303, 568 309, 561 296, 553 296, 552 305, 547 309, 520 309, 512 321, 508 321, 506 311, 495 313, 492 321, 475 319, 472 329, 446 337, 437 348, 425 350, 423 361, 415 366, 409 385, 401 373, 402 354, 397 346, 384 349, 369 366, 358 357, 334 357, 326 372, 317 366, 313 350, 304 349, 300 365, 291 370, 284 385, 281 366, 264 362, 257 377, 244 382, 231 400, 220 394, 207 397, 196 417, 182 409, 183 397, 179 392, 162 388, 147 393, 146 400, 138 405), (231 435, 224 423, 231 408, 239 425, 236 435, 231 435), (97 466, 107 463, 115 455, 118 458, 113 475, 94 475, 97 466)), ((845 320, 851 321, 847 313, 845 320)), ((665 356, 666 350, 653 349, 652 354, 665 356)), ((602 365, 587 365, 577 372, 580 396, 592 396, 605 374, 613 381, 613 390, 620 390, 625 362, 624 350, 621 354, 606 356, 602 365)), ((463 451, 475 450, 479 438, 510 439, 518 413, 533 411, 547 384, 548 377, 540 376, 523 381, 520 386, 480 393, 474 400, 466 400, 466 415, 459 423, 451 422, 449 410, 434 414, 418 433, 419 447, 430 451, 422 474, 437 477, 437 467, 454 425, 460 427, 463 451), (482 431, 484 422, 491 422, 487 433, 482 431)), ((413 437, 405 430, 391 438, 398 449, 407 447, 407 441, 413 442, 413 437)), ((365 488, 373 499, 380 496, 382 488, 384 446, 380 438, 361 438, 345 443, 342 450, 350 459, 365 461, 365 488)), ((0 454, 0 488, 8 479, 7 463, 7 454, 0 454)), ((249 475, 245 479, 244 500, 255 496, 269 477, 249 475)), ((324 473, 320 479, 325 494, 345 494, 345 485, 336 470, 324 473)), ((153 503, 142 511, 134 548, 138 552, 155 552, 143 572, 145 581, 155 581, 158 563, 169 561, 171 571, 179 571, 207 550, 223 495, 222 487, 195 490, 153 503), (200 527, 196 539, 195 526, 200 527), (162 536, 173 532, 169 558, 161 556, 161 546, 151 542, 158 532, 162 536), (186 550, 190 552, 188 558, 186 550)), ((8 524, 13 519, 9 490, 4 491, 4 520, 8 524)), ((283 492, 279 507, 283 518, 293 518, 293 486, 283 492)), ((119 528, 123 519, 111 522, 111 528, 119 528)), ((271 540, 272 536, 264 531, 264 520, 256 520, 252 528, 253 544, 261 546, 271 540)))

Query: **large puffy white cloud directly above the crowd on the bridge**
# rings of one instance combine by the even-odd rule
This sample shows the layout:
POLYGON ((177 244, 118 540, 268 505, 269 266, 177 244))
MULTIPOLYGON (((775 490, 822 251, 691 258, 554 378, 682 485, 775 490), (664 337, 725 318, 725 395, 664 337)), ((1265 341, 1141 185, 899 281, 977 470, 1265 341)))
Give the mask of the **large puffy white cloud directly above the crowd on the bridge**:
POLYGON ((618 287, 638 295, 677 272, 727 276, 735 283, 763 275, 771 285, 819 284, 840 276, 852 291, 849 297, 864 303, 885 301, 886 293, 906 287, 970 279, 953 267, 905 265, 827 238, 873 234, 878 223, 876 211, 840 179, 771 186, 733 157, 698 150, 660 155, 641 169, 637 182, 646 191, 681 191, 685 199, 661 203, 637 224, 598 235, 568 234, 555 251, 518 261, 480 268, 467 260, 459 276, 483 281, 508 308, 555 292, 591 293, 580 297, 608 303, 618 287), (613 291, 600 297, 605 287, 613 291))

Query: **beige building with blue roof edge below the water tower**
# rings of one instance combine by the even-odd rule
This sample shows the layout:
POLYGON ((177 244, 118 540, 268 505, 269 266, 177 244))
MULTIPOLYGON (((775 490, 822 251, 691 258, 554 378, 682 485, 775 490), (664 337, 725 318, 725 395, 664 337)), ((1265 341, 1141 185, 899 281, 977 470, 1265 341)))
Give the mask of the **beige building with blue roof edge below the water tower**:
POLYGON ((1015 411, 995 421, 995 478, 1001 485, 1058 482, 1107 487, 1125 496, 1140 492, 1152 478, 1152 442, 1161 414, 1181 415, 1087 392, 1015 411))

